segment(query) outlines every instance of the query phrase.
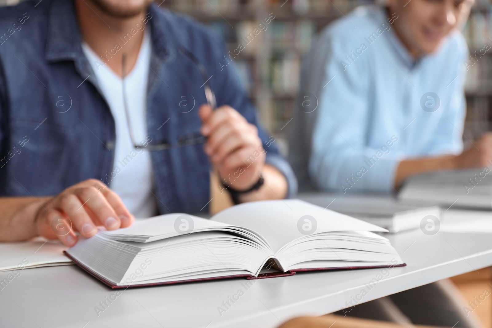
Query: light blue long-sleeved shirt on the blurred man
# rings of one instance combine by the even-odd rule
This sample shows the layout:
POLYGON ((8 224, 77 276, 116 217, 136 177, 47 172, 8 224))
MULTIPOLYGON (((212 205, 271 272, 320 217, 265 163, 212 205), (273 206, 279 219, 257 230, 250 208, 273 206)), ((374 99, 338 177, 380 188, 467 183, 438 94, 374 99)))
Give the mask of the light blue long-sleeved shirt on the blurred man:
POLYGON ((309 54, 306 83, 318 98, 309 175, 322 189, 393 191, 402 159, 463 148, 461 32, 415 60, 395 18, 381 6, 358 7, 325 28, 309 54))

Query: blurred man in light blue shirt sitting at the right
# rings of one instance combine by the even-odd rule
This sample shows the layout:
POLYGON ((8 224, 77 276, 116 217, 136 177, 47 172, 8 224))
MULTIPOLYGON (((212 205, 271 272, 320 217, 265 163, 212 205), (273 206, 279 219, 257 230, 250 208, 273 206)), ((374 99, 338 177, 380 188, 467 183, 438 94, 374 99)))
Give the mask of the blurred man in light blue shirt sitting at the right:
POLYGON ((490 135, 463 152, 469 54, 459 27, 471 4, 390 0, 321 32, 301 83, 318 107, 300 113, 316 118, 306 157, 318 187, 389 192, 414 174, 492 159, 490 135))

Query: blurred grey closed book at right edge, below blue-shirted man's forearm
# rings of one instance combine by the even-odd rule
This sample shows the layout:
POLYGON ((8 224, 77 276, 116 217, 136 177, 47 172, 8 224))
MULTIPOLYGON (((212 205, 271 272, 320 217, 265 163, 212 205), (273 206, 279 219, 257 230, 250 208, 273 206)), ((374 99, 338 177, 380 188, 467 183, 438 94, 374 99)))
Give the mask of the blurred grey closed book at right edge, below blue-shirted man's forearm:
POLYGON ((448 170, 413 176, 404 181, 400 197, 410 203, 492 209, 492 169, 448 170))

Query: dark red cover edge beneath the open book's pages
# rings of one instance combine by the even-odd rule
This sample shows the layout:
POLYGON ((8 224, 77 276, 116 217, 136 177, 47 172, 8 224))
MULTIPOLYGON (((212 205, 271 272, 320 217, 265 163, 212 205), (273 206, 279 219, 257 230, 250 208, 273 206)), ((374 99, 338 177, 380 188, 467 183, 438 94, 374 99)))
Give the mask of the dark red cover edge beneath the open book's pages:
MULTIPOLYGON (((366 269, 366 268, 387 268, 387 266, 365 266, 365 267, 338 267, 338 268, 310 268, 310 269, 295 269, 295 270, 289 270, 287 272, 269 272, 269 273, 262 273, 259 274, 258 276, 250 275, 250 274, 244 274, 244 275, 230 275, 230 276, 220 276, 220 277, 212 277, 212 278, 200 278, 200 279, 187 279, 187 280, 176 280, 176 281, 166 281, 166 282, 155 282, 155 283, 144 283, 144 284, 135 284, 135 285, 115 285, 112 282, 108 281, 104 277, 100 276, 96 272, 92 271, 90 268, 87 268, 85 265, 80 263, 78 260, 70 256, 66 251, 63 251, 63 254, 65 254, 70 260, 72 260, 75 264, 77 264, 79 267, 83 268, 85 271, 88 273, 92 274, 94 277, 99 279, 101 282, 104 284, 108 285, 109 287, 113 289, 127 289, 127 288, 133 288, 133 287, 148 287, 148 286, 159 286, 159 285, 171 285, 171 284, 179 284, 179 283, 185 283, 185 282, 195 282, 195 281, 206 281, 206 280, 217 280, 217 279, 226 279, 226 278, 240 278, 240 277, 246 277, 246 279, 264 279, 264 278, 276 278, 276 277, 285 277, 285 276, 291 276, 296 274, 296 272, 303 272, 303 271, 320 271, 320 270, 341 270, 341 269, 366 269)), ((403 264, 398 264, 394 265, 393 267, 404 267, 406 266, 405 263, 403 264)))

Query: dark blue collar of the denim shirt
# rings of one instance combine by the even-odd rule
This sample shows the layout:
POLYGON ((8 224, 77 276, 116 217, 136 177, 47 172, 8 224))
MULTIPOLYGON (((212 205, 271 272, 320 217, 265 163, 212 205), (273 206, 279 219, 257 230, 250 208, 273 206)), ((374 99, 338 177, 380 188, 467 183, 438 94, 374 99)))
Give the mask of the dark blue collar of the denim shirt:
MULTIPOLYGON (((168 22, 172 15, 163 15, 154 2, 150 4, 148 12, 148 24, 151 24, 151 30, 154 31, 151 33, 153 54, 163 62, 173 60, 176 56, 176 43, 171 33, 164 33, 173 30, 170 28, 172 22, 168 22)), ((48 15, 46 60, 77 61, 84 58, 81 41, 73 0, 53 1, 48 15)))

